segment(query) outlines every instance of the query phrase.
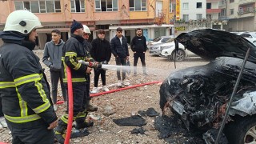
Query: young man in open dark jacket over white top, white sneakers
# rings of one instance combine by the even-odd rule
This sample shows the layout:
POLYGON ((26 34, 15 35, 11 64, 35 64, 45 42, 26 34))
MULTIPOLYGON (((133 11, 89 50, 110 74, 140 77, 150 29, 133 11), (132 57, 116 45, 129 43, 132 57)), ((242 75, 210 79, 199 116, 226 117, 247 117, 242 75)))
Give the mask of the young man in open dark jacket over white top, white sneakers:
MULTIPOLYGON (((118 27, 117 33, 114 38, 111 39, 110 48, 112 54, 114 54, 116 65, 126 66, 127 60, 129 59, 129 50, 127 45, 126 37, 122 35, 122 28, 118 27)), ((121 69, 117 70, 118 75, 118 86, 129 86, 130 83, 125 81, 126 79, 126 70, 122 70, 122 80, 121 80, 121 69)))

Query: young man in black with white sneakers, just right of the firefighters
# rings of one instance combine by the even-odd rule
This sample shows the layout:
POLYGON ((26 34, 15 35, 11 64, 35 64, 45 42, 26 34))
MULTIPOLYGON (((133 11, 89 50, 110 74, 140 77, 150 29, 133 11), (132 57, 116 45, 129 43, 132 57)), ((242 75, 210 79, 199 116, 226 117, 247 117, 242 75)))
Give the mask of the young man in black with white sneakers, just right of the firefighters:
MULTIPOLYGON (((95 38, 92 44, 92 49, 90 50, 90 55, 97 62, 102 62, 102 64, 107 64, 111 58, 110 42, 105 39, 105 31, 99 29, 98 38, 95 38)), ((102 77, 102 90, 109 91, 106 87, 106 70, 94 69, 94 89, 91 91, 92 94, 98 93, 98 78, 99 75, 102 77)))

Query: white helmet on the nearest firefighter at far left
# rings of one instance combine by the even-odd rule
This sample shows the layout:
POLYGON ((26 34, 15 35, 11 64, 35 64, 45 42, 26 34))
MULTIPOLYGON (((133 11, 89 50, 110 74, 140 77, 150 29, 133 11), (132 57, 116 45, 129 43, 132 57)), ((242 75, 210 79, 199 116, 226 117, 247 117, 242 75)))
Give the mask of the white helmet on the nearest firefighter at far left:
POLYGON ((42 27, 39 18, 27 10, 15 10, 6 19, 3 31, 18 31, 22 34, 30 34, 34 29, 42 27))

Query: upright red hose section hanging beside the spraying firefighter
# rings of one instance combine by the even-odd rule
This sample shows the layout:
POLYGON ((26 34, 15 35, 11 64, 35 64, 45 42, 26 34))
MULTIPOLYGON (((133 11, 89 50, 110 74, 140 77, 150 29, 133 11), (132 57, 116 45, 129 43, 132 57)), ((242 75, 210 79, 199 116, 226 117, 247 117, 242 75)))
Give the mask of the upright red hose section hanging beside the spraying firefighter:
POLYGON ((70 67, 66 66, 66 74, 67 74, 67 92, 69 97, 69 118, 68 124, 66 129, 66 138, 65 144, 70 143, 70 135, 72 130, 72 123, 73 123, 73 89, 72 89, 72 78, 71 78, 71 70, 70 67))

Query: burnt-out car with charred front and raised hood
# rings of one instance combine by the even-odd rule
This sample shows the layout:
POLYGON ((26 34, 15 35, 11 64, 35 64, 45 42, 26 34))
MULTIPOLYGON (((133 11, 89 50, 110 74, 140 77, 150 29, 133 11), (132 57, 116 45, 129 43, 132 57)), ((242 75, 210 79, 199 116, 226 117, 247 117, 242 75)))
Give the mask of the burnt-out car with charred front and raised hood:
POLYGON ((219 133, 229 143, 256 142, 254 44, 236 34, 211 29, 183 33, 176 40, 210 62, 175 71, 162 82, 159 90, 162 114, 170 108, 188 130, 204 130, 206 143, 215 142, 226 115, 223 133, 222 130, 219 133))

